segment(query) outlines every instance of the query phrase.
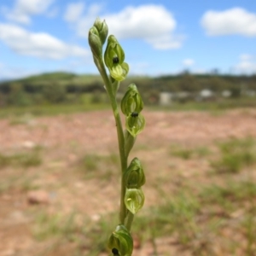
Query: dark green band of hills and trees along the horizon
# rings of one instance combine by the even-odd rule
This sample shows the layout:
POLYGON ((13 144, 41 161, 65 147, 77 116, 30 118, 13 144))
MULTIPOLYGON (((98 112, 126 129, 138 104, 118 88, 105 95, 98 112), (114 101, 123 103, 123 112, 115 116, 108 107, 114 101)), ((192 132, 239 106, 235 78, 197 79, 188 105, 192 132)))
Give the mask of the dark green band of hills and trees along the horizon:
MULTIPOLYGON (((182 73, 156 78, 132 77, 119 88, 122 94, 131 81, 137 84, 145 102, 158 98, 160 92, 177 93, 186 91, 192 94, 201 90, 212 90, 221 94, 230 90, 231 96, 240 96, 243 90, 256 91, 256 74, 250 76, 182 73)), ((5 81, 0 83, 0 104, 27 105, 32 103, 70 102, 84 94, 98 96, 104 92, 102 81, 97 76, 79 76, 69 73, 49 73, 32 78, 5 81)))

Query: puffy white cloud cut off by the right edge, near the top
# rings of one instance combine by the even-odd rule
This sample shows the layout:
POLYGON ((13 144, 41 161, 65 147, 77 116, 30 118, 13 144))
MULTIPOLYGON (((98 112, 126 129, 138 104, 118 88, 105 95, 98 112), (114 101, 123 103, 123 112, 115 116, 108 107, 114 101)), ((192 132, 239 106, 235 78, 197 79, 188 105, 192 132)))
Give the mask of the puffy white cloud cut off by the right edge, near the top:
POLYGON ((242 35, 256 36, 256 14, 245 9, 233 8, 225 11, 207 11, 202 19, 203 26, 209 36, 242 35))

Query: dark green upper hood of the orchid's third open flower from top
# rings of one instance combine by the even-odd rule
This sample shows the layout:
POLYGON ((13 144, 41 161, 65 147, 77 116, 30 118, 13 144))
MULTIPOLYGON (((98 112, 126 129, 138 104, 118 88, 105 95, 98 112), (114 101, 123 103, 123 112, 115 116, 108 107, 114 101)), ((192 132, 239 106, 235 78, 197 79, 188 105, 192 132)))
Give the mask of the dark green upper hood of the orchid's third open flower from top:
POLYGON ((146 182, 143 166, 137 157, 131 160, 130 166, 124 173, 124 179, 127 189, 139 189, 146 182))

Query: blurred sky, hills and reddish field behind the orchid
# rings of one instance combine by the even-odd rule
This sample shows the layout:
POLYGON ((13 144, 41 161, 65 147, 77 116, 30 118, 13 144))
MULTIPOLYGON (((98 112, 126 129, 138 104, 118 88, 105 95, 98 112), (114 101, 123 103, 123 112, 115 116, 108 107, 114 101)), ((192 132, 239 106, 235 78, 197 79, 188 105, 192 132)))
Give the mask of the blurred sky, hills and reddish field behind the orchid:
POLYGON ((119 155, 87 43, 96 17, 130 66, 118 102, 135 83, 145 103, 134 255, 255 255, 256 3, 3 0, 0 13, 1 256, 108 255, 119 155))

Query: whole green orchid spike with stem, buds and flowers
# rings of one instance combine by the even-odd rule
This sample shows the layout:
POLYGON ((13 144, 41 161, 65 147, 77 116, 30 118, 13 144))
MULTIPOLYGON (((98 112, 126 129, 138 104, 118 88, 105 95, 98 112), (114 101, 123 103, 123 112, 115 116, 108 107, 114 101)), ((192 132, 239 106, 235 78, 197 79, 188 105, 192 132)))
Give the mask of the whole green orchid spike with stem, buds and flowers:
POLYGON ((121 163, 119 224, 117 224, 109 238, 108 247, 112 253, 111 255, 131 256, 133 250, 133 240, 130 234, 131 224, 134 215, 144 204, 142 186, 146 182, 146 178, 141 161, 136 157, 131 160, 128 166, 128 159, 137 135, 143 131, 145 126, 145 119, 142 114, 143 100, 137 86, 130 84, 120 106, 122 113, 125 115, 124 129, 116 95, 120 81, 125 80, 129 73, 129 66, 125 62, 125 51, 113 35, 108 36, 108 26, 105 20, 96 19, 89 30, 88 40, 93 60, 108 93, 119 141, 121 163), (107 38, 108 43, 103 54, 103 45, 107 38))

